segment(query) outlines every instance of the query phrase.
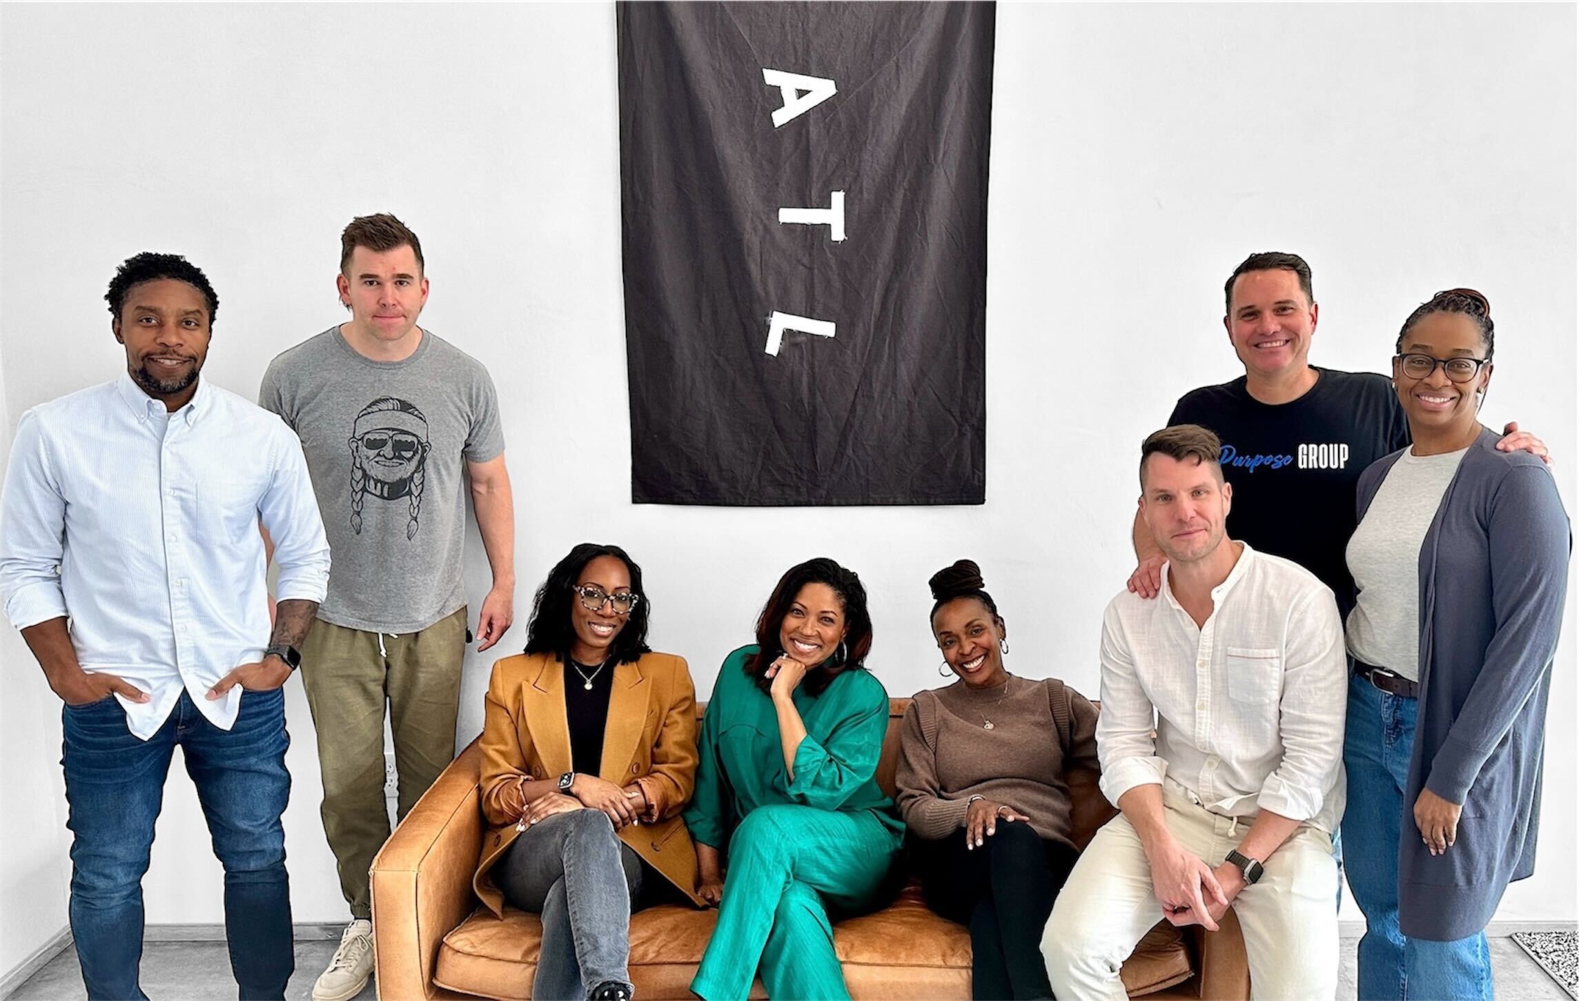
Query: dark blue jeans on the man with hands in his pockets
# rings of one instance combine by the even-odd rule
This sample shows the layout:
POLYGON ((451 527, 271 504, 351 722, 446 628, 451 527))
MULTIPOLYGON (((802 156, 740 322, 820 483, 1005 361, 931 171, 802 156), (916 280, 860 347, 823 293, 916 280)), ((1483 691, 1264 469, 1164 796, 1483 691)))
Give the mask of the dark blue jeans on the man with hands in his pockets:
POLYGON ((71 938, 92 999, 144 999, 142 875, 180 744, 197 786, 213 853, 224 865, 224 930, 240 998, 284 998, 295 969, 291 889, 279 815, 291 796, 284 695, 243 692, 235 726, 210 723, 182 692, 148 740, 126 729, 114 698, 62 710, 71 938))

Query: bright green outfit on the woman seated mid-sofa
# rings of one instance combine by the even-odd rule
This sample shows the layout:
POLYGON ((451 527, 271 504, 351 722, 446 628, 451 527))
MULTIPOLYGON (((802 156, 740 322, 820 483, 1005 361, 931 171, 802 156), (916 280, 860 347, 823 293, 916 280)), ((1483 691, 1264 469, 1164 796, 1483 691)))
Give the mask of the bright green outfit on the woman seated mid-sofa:
POLYGON ((887 692, 865 669, 816 698, 796 688, 805 739, 790 782, 772 699, 744 671, 755 652, 725 658, 701 725, 685 824, 725 854, 728 873, 692 993, 742 999, 759 968, 771 998, 848 998, 826 906, 875 908, 905 832, 875 777, 887 692))

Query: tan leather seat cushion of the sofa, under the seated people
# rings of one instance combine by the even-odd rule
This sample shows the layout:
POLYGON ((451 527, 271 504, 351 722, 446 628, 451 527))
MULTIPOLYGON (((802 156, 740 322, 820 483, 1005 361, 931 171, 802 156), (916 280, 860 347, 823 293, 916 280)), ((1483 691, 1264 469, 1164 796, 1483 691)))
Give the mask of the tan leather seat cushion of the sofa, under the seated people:
MULTIPOLYGON (((688 999, 690 980, 707 947, 717 911, 660 905, 630 919, 630 979, 638 998, 688 999)), ((542 922, 505 909, 504 919, 478 908, 444 936, 434 984, 485 998, 526 1001, 542 922)), ((970 998, 971 939, 954 922, 927 909, 911 883, 891 906, 834 925, 834 949, 854 998, 970 998)), ((1124 990, 1140 996, 1191 977, 1189 955, 1172 925, 1153 928, 1123 968, 1124 990)), ((761 982, 752 998, 766 998, 761 982)))

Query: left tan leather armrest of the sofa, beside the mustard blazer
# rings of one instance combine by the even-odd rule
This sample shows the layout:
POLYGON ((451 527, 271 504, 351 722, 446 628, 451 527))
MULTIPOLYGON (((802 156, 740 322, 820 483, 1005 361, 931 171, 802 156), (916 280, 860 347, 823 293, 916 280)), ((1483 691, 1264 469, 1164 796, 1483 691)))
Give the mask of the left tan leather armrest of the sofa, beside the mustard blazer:
POLYGON ((483 845, 472 740, 423 793, 373 859, 373 947, 381 998, 442 998, 439 944, 477 906, 472 875, 483 845))

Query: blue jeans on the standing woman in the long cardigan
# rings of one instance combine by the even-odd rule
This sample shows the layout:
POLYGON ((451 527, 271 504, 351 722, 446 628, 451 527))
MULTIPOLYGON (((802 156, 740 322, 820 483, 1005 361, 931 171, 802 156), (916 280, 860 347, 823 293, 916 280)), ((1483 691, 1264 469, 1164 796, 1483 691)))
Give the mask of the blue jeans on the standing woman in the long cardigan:
MULTIPOLYGON (((1484 932, 1451 943, 1408 938, 1397 927, 1397 848, 1418 838, 1415 804, 1404 802, 1415 747, 1418 699, 1348 679, 1344 767, 1344 867, 1366 916, 1360 939, 1361 1001, 1491 1001, 1491 952, 1484 932)), ((1451 851, 1451 849, 1450 849, 1451 851)))

